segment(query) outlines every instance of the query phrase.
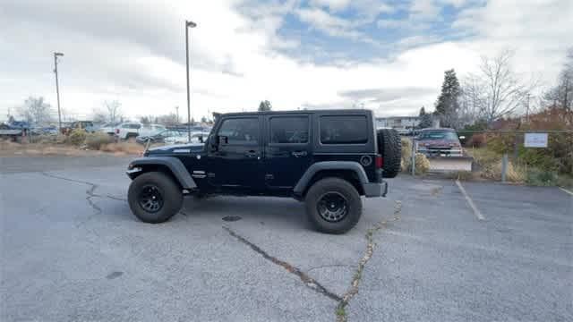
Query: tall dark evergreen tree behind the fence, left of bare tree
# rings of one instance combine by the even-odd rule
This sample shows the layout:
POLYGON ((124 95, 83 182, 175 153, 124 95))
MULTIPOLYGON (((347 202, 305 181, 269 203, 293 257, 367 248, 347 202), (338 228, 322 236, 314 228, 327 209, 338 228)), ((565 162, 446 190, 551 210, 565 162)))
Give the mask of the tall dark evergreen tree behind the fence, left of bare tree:
POLYGON ((441 85, 440 97, 436 102, 434 114, 440 117, 441 126, 455 127, 459 109, 459 81, 456 72, 451 69, 444 72, 444 82, 441 85))

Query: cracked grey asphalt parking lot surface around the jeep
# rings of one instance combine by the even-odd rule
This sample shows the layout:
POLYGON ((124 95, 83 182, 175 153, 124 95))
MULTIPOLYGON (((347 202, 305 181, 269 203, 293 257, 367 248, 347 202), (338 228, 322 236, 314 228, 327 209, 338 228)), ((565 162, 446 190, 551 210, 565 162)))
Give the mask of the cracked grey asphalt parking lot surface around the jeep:
POLYGON ((345 235, 293 199, 186 199, 148 225, 128 160, 0 158, 0 320, 573 320, 558 188, 463 182, 476 212, 456 182, 398 176, 345 235))

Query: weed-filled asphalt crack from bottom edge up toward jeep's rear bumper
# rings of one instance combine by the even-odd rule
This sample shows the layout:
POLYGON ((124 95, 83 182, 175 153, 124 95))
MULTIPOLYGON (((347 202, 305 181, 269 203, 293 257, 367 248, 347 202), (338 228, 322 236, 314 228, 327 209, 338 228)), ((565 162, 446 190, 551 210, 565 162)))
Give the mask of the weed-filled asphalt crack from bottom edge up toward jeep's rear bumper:
POLYGON ((395 201, 394 205, 394 217, 392 219, 383 219, 380 222, 372 226, 372 228, 366 231, 366 250, 364 250, 363 257, 360 258, 358 262, 358 267, 356 267, 355 275, 350 283, 350 288, 342 295, 342 299, 338 301, 338 306, 336 309, 337 322, 346 322, 346 306, 352 300, 352 298, 358 293, 358 287, 360 286, 360 281, 362 280, 363 270, 368 261, 372 258, 372 253, 374 251, 374 233, 380 231, 384 226, 388 225, 390 222, 398 221, 400 218, 400 212, 402 211, 402 202, 399 200, 395 201))

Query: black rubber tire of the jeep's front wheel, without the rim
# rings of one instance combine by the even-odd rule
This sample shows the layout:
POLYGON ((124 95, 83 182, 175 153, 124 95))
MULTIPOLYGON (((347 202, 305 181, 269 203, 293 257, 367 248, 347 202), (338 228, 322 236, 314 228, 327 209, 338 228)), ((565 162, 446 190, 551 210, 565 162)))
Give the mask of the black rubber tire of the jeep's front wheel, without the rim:
POLYGON ((142 222, 150 224, 163 223, 174 216, 183 206, 183 191, 167 174, 149 172, 133 179, 127 193, 129 208, 133 215, 142 222), (155 186, 163 199, 163 206, 157 212, 148 212, 141 207, 139 197, 146 186, 155 186))

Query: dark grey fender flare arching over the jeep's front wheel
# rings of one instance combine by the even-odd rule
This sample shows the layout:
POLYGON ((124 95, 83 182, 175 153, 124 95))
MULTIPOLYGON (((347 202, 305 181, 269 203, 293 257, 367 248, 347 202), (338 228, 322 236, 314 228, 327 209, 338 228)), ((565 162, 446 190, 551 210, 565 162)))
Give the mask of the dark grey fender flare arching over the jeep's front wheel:
POLYGON ((184 189, 195 189, 197 184, 193 181, 191 174, 185 168, 183 162, 176 157, 139 157, 130 162, 127 175, 133 179, 136 174, 140 171, 144 171, 145 166, 150 165, 162 165, 167 166, 171 171, 171 174, 175 176, 175 179, 181 184, 184 189), (140 168, 140 171, 137 171, 140 168))

